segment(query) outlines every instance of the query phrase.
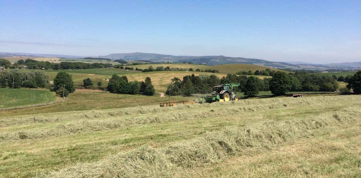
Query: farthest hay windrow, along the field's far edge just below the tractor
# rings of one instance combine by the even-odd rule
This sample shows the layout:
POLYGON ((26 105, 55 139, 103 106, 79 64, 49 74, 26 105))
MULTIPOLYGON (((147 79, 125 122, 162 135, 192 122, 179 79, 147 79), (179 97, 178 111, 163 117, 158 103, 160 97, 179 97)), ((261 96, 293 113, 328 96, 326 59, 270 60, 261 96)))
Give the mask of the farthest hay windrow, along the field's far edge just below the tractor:
POLYGON ((31 116, 12 116, 0 118, 0 127, 33 124, 33 123, 52 123, 57 121, 66 120, 79 120, 79 119, 94 119, 94 118, 108 118, 108 117, 122 117, 140 114, 155 114, 161 112, 179 112, 179 110, 205 110, 207 108, 229 108, 236 107, 248 109, 249 111, 277 109, 287 106, 302 106, 309 104, 334 102, 334 101, 354 101, 360 99, 361 96, 349 95, 349 96, 332 96, 332 97, 303 97, 303 98, 269 98, 269 99, 243 99, 239 101, 223 102, 223 103, 204 103, 194 105, 179 105, 177 107, 155 107, 155 106, 142 106, 142 107, 130 107, 113 110, 91 110, 81 111, 79 114, 72 113, 58 113, 56 115, 31 115, 31 116), (284 106, 286 104, 287 106, 284 106), (253 106, 253 107, 251 107, 253 106))

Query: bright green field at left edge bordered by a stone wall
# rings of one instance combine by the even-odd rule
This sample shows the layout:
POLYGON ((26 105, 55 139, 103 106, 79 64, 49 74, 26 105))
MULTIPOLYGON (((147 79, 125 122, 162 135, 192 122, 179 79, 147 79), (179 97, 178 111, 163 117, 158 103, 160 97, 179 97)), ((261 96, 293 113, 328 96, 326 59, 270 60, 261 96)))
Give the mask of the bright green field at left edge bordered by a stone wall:
POLYGON ((56 99, 49 90, 0 88, 0 109, 48 103, 56 99))

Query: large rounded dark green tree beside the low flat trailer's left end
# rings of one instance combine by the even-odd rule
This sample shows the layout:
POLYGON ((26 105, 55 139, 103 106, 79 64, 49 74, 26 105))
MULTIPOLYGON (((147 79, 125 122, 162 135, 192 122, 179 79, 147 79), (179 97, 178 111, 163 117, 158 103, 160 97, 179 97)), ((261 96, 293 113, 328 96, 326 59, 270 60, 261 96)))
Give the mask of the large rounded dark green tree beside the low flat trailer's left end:
POLYGON ((286 72, 276 71, 273 73, 269 85, 272 94, 283 95, 291 89, 290 77, 286 72))

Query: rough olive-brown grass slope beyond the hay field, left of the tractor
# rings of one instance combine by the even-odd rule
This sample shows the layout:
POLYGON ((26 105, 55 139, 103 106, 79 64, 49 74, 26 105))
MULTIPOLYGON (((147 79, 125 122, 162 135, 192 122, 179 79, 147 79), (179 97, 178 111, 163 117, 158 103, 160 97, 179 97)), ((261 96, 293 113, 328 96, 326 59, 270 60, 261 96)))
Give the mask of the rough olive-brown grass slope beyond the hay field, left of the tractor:
MULTIPOLYGON (((1 89, 3 88, 0 88, 0 91, 1 89)), ((49 91, 45 91, 45 92, 49 92, 49 91)), ((174 99, 174 101, 189 101, 195 98, 197 97, 171 96, 170 100, 174 99)), ((148 106, 148 105, 159 106, 160 102, 168 102, 168 99, 169 99, 168 96, 160 97, 160 95, 154 95, 149 97, 141 94, 139 95, 114 94, 114 93, 106 93, 105 91, 103 92, 75 91, 74 93, 70 93, 69 96, 65 98, 65 101, 60 103, 50 104, 46 106, 30 107, 30 108, 19 108, 16 110, 9 110, 9 111, 0 111, 0 115, 15 116, 15 115, 26 115, 26 114, 43 114, 50 112, 125 108, 132 106, 148 106)))

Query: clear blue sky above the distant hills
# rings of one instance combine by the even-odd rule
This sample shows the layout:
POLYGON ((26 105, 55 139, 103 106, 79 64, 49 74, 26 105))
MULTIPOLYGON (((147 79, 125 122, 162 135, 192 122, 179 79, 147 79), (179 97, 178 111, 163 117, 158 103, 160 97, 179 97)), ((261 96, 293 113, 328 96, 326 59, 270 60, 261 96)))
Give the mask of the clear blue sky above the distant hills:
POLYGON ((0 52, 361 61, 361 1, 1 0, 0 52))

